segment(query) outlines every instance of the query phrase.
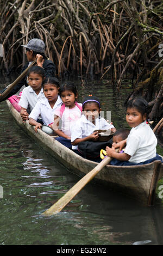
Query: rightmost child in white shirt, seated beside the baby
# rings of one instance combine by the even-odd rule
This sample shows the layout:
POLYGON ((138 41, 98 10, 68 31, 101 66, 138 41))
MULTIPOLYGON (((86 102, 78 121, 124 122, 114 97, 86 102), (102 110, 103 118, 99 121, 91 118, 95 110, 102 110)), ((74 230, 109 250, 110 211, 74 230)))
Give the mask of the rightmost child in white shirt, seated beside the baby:
POLYGON ((162 160, 156 154, 157 139, 146 122, 147 115, 148 102, 145 99, 139 97, 127 103, 126 121, 132 128, 129 136, 114 148, 106 147, 106 154, 117 160, 114 165, 130 166, 162 160), (116 148, 121 151, 125 146, 124 153, 115 152, 116 148))

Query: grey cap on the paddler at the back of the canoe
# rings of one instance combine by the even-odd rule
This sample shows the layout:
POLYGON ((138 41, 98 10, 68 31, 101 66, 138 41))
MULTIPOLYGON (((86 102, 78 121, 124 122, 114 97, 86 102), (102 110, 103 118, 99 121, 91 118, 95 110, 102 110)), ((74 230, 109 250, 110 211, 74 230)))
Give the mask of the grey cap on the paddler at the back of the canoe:
POLYGON ((31 39, 27 45, 21 45, 23 47, 28 48, 29 50, 32 50, 34 52, 45 52, 45 44, 44 42, 39 38, 33 38, 31 39))

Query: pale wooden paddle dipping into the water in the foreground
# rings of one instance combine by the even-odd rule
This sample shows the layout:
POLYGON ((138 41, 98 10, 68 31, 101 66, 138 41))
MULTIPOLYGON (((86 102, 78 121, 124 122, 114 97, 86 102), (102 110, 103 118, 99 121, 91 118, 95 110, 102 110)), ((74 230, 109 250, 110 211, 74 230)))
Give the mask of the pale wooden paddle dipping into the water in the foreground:
MULTIPOLYGON (((119 151, 119 149, 116 149, 119 151)), ((42 215, 53 215, 58 214, 65 206, 68 204, 72 198, 74 198, 80 190, 91 181, 100 170, 106 166, 111 161, 111 157, 106 156, 97 166, 87 173, 82 179, 80 179, 77 184, 75 184, 63 197, 61 197, 57 203, 53 204, 51 208, 42 213, 42 215)))

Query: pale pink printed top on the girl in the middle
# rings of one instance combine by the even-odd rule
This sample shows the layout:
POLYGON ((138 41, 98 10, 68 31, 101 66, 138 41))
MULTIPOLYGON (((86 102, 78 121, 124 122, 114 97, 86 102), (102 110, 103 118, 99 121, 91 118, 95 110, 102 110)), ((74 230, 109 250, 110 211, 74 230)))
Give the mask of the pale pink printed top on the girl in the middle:
MULTIPOLYGON (((82 107, 82 103, 78 103, 82 107)), ((55 115, 61 117, 60 108, 55 111, 55 115)), ((64 113, 61 117, 61 130, 68 137, 71 137, 71 127, 76 125, 76 121, 81 117, 82 111, 78 108, 78 106, 74 106, 73 108, 65 107, 64 113)), ((60 125, 60 124, 59 124, 60 125)), ((60 129, 60 127, 59 127, 60 129)))

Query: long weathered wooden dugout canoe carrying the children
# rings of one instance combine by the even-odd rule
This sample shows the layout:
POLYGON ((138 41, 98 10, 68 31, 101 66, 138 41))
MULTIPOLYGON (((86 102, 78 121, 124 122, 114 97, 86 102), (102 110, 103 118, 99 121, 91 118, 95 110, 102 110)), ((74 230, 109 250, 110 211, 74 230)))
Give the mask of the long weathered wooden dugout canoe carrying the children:
MULTIPOLYGON (((84 176, 98 164, 84 159, 72 150, 55 140, 56 136, 49 136, 45 132, 38 130, 36 133, 34 126, 29 125, 28 121, 22 123, 20 113, 7 100, 9 110, 18 126, 41 145, 43 150, 57 159, 68 170, 84 176)), ((129 197, 135 198, 145 205, 154 204, 155 191, 158 180, 163 176, 163 164, 161 161, 141 166, 105 166, 101 172, 93 179, 95 183, 105 185, 109 189, 120 191, 129 197)))

